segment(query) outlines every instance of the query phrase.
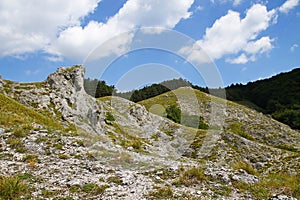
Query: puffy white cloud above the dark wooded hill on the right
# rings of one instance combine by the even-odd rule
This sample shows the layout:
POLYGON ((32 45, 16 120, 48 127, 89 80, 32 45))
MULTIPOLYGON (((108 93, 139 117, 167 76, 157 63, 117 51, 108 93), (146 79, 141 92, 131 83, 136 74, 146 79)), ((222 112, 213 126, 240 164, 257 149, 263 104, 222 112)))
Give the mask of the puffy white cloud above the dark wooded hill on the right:
MULTIPOLYGON (((197 41, 197 44, 213 60, 240 52, 250 54, 250 57, 265 53, 273 48, 273 40, 258 36, 270 26, 275 17, 275 10, 268 11, 266 6, 261 4, 253 5, 247 10, 244 18, 240 17, 240 13, 229 10, 225 16, 217 19, 212 27, 206 29, 203 39, 197 41)), ((238 61, 245 63, 249 60, 245 59, 243 54, 241 56, 238 61)))

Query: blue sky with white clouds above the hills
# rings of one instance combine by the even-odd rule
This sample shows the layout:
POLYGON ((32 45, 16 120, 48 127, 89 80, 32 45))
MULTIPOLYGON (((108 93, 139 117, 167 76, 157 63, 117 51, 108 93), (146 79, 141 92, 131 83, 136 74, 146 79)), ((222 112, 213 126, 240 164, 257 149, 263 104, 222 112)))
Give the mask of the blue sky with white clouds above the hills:
POLYGON ((1 0, 0 75, 82 64, 119 91, 222 87, 300 67, 300 0, 1 0))

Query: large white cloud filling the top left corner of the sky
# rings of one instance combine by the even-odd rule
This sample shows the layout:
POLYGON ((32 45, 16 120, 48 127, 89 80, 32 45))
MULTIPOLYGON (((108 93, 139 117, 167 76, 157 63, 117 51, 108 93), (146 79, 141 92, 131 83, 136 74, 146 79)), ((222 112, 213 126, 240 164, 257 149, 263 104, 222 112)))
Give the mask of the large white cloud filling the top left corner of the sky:
POLYGON ((0 1, 0 57, 43 50, 65 27, 80 24, 100 0, 0 1))

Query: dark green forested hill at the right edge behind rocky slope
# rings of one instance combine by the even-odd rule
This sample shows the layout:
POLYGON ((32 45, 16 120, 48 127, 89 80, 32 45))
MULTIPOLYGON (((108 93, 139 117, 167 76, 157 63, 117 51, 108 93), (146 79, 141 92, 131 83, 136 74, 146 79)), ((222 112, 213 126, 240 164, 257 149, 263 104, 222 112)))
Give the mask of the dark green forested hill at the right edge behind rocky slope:
POLYGON ((300 129, 300 68, 246 85, 231 85, 226 96, 300 129))

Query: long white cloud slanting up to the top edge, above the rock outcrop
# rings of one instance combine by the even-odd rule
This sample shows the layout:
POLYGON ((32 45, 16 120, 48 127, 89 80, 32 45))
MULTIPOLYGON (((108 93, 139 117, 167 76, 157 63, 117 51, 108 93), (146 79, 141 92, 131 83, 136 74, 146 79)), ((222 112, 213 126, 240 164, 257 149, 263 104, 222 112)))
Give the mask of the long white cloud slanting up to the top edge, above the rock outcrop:
POLYGON ((62 31, 57 41, 49 46, 48 52, 82 61, 93 49, 123 33, 121 39, 101 47, 98 56, 123 53, 134 36, 131 31, 143 27, 156 28, 147 29, 148 33, 159 33, 163 28, 172 29, 181 19, 190 17, 188 10, 193 2, 128 0, 105 24, 91 21, 85 27, 78 25, 62 31))

